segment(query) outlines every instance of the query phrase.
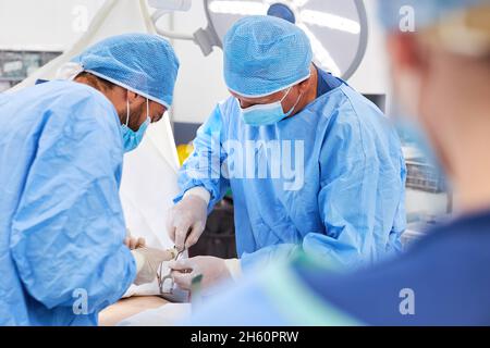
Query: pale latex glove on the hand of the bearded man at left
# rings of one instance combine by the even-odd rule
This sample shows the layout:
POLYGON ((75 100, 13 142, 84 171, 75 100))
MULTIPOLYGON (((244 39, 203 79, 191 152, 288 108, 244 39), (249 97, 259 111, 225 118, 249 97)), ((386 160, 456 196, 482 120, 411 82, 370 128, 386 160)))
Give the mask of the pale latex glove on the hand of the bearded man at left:
POLYGON ((173 260, 174 253, 169 250, 139 248, 131 251, 136 261, 135 285, 151 283, 157 277, 158 269, 164 261, 173 260))

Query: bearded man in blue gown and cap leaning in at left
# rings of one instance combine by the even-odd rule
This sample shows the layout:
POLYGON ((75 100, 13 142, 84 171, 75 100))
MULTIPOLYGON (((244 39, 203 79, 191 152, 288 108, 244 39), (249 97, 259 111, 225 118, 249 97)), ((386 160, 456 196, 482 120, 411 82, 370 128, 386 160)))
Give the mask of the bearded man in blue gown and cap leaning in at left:
POLYGON ((166 258, 123 244, 119 186, 124 152, 172 103, 175 53, 127 34, 71 65, 74 80, 0 95, 0 325, 97 325, 166 258))

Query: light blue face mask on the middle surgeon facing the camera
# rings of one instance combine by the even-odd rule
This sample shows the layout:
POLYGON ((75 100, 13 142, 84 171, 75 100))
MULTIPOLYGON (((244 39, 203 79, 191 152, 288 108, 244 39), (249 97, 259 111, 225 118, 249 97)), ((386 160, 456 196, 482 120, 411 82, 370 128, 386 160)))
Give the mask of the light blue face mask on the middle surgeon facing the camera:
POLYGON ((284 113, 282 102, 287 97, 292 88, 293 87, 290 87, 290 89, 287 89, 287 92, 284 95, 284 97, 282 97, 280 101, 275 101, 268 104, 257 104, 246 109, 242 109, 242 107, 240 107, 242 119, 245 122, 245 124, 248 124, 250 126, 266 126, 275 124, 284 120, 285 117, 289 117, 294 112, 294 109, 296 109, 301 98, 303 97, 303 94, 301 94, 294 107, 291 108, 289 112, 284 113))

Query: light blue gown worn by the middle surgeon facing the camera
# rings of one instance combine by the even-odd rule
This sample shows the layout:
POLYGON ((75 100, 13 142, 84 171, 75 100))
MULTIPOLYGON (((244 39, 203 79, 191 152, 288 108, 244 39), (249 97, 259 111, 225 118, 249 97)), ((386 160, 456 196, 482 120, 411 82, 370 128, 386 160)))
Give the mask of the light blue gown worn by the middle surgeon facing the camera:
MULTIPOLYGON (((335 77, 320 71, 320 78, 335 77)), ((278 124, 246 125, 236 99, 230 98, 198 129, 195 150, 180 172, 182 191, 175 201, 200 186, 211 194, 212 209, 231 187, 237 252, 245 270, 298 247, 332 266, 347 268, 401 248, 406 171, 399 137, 373 103, 343 82, 330 85, 330 90, 278 124), (296 163, 301 150, 294 151, 295 140, 303 141, 303 174, 244 175, 249 167, 234 176, 226 173, 246 157, 236 154, 237 144, 258 144, 256 163, 266 162, 273 173, 271 169, 283 161, 272 154, 270 145, 290 141, 291 162, 296 163)))

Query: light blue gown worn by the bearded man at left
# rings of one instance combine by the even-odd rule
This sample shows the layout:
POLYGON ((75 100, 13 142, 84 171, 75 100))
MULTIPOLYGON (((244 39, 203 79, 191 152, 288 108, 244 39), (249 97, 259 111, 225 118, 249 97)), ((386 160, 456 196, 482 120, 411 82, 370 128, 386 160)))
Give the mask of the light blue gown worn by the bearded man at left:
POLYGON ((0 325, 96 325, 136 273, 115 109, 50 82, 0 95, 0 325))

